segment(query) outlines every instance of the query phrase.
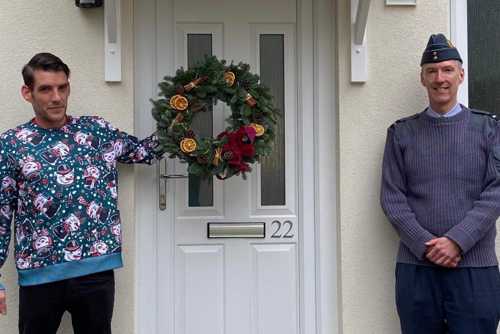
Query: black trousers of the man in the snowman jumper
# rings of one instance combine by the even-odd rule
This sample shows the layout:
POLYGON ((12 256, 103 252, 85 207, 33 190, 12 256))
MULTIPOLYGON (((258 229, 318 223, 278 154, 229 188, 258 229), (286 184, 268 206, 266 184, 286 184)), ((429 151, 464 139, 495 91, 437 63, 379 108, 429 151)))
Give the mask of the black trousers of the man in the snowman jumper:
POLYGON ((111 332, 113 270, 19 287, 19 333, 55 334, 62 314, 71 314, 75 334, 111 332))

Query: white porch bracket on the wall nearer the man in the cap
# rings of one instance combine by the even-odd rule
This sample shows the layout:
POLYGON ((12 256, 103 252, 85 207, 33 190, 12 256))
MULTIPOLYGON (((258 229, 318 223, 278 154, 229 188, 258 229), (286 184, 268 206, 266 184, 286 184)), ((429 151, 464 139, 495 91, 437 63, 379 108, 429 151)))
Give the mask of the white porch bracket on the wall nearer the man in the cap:
POLYGON ((366 82, 366 20, 370 0, 350 0, 350 82, 366 82))

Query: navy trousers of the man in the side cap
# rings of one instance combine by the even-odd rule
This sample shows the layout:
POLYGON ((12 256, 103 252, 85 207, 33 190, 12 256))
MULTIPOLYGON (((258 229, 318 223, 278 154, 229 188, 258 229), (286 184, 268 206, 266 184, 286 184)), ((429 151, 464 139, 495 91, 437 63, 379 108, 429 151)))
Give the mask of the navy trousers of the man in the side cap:
POLYGON ((403 334, 496 334, 498 266, 444 268, 396 264, 396 307, 403 334))

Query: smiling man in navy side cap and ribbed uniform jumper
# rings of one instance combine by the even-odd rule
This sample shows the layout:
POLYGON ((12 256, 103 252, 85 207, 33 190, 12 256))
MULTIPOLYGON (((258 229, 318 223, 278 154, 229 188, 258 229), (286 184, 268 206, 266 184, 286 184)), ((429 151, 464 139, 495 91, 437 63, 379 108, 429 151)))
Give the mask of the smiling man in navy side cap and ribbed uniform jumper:
POLYGON ((429 106, 387 129, 380 201, 400 238, 403 334, 493 334, 500 319, 500 123, 457 102, 461 62, 431 35, 420 63, 429 106))

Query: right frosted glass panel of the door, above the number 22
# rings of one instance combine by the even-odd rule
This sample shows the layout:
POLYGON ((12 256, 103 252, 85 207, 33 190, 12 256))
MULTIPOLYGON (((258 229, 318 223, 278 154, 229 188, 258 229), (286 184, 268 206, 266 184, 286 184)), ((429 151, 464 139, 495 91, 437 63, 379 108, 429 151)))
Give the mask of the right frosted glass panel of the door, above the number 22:
POLYGON ((282 34, 260 35, 260 82, 271 87, 282 117, 276 125, 272 153, 260 162, 260 204, 285 205, 284 164, 284 43, 282 34))

